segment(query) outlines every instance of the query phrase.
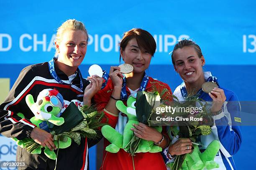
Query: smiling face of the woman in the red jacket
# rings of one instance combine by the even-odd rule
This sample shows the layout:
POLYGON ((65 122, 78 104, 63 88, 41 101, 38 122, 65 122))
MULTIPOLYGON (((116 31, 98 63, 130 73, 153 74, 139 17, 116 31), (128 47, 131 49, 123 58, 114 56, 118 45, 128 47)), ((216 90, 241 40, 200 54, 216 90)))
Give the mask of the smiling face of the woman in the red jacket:
POLYGON ((120 54, 125 63, 133 66, 133 73, 144 72, 148 68, 152 58, 152 55, 148 51, 141 50, 138 47, 136 38, 133 38, 128 42, 125 50, 121 48, 120 54))

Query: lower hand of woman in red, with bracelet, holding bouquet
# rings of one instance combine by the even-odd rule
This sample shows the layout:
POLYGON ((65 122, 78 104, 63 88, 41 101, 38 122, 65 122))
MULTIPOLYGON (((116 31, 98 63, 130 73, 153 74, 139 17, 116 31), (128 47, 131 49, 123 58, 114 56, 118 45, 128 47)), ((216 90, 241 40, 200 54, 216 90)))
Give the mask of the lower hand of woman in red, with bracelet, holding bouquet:
POLYGON ((138 125, 133 124, 133 126, 135 128, 131 128, 131 130, 138 138, 152 140, 154 143, 158 143, 162 139, 162 134, 155 128, 149 127, 141 122, 138 125))

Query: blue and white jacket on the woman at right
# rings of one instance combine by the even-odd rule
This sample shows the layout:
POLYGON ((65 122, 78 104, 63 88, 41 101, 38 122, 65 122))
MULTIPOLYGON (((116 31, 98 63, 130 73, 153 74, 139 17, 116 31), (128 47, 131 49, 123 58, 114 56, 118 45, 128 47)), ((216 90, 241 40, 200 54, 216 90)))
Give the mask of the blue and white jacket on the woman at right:
MULTIPOLYGON (((207 81, 212 75, 210 72, 204 72, 204 76, 207 81)), ((184 82, 175 89, 173 94, 179 99, 179 101, 186 101, 181 92, 182 87, 185 87, 184 82)), ((224 89, 223 87, 220 88, 224 90, 226 96, 226 101, 223 104, 223 112, 219 115, 213 116, 214 125, 211 127, 212 133, 207 136, 200 136, 196 142, 201 143, 201 147, 199 148, 200 151, 203 152, 212 140, 218 140, 220 142, 220 150, 214 161, 220 165, 220 168, 215 168, 215 170, 236 170, 232 156, 238 152, 242 142, 241 107, 238 97, 234 92, 224 89)), ((205 101, 212 101, 212 98, 205 92, 201 93, 200 98, 205 101)), ((172 143, 177 141, 177 136, 174 137, 171 133, 169 133, 169 136, 172 143)), ((166 152, 167 149, 162 152, 165 162, 173 162, 174 159, 169 160, 166 157, 166 152)))

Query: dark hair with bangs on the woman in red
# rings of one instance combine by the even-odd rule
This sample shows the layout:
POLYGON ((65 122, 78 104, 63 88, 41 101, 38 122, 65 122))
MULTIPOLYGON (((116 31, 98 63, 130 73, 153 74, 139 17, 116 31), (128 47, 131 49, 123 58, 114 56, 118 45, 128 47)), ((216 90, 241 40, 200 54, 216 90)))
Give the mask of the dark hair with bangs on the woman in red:
MULTIPOLYGON (((156 52, 156 41, 154 37, 147 32, 146 30, 143 30, 141 28, 133 28, 127 32, 124 33, 123 38, 120 42, 120 49, 125 50, 125 47, 127 46, 128 42, 136 38, 136 41, 138 43, 138 47, 140 50, 146 50, 149 54, 154 56, 154 53, 156 52)), ((121 60, 121 54, 119 57, 119 61, 121 60)))

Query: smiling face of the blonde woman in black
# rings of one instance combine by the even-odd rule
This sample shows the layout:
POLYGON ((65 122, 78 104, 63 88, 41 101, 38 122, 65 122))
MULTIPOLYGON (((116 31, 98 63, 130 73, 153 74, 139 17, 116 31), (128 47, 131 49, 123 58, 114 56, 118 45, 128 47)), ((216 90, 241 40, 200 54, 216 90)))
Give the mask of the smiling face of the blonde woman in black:
POLYGON ((78 67, 87 50, 87 35, 82 30, 66 30, 61 41, 55 42, 58 61, 71 67, 78 67))

